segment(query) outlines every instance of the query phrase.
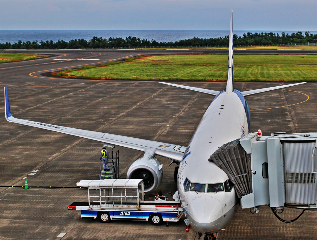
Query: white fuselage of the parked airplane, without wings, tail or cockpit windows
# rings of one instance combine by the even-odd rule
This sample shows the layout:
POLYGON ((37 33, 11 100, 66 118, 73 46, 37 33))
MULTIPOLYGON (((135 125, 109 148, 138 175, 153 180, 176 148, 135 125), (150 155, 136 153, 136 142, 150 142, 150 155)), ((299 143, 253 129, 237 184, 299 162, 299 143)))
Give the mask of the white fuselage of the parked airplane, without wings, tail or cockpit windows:
POLYGON ((179 165, 178 193, 185 216, 195 231, 218 232, 234 216, 238 202, 234 187, 227 192, 207 191, 208 184, 224 183, 229 179, 208 159, 223 144, 249 133, 249 117, 249 106, 241 92, 220 92, 208 106, 188 144, 179 165), (205 190, 185 191, 186 178, 191 183, 205 184, 205 190))

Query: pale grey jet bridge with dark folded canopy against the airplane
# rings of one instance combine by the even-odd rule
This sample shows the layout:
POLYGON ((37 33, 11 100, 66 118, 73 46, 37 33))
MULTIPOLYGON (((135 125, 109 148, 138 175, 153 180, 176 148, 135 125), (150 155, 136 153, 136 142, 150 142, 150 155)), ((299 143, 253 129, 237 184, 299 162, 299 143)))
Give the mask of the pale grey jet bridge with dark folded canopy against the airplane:
POLYGON ((235 184, 242 208, 269 205, 317 211, 317 133, 261 131, 224 144, 214 161, 235 184))

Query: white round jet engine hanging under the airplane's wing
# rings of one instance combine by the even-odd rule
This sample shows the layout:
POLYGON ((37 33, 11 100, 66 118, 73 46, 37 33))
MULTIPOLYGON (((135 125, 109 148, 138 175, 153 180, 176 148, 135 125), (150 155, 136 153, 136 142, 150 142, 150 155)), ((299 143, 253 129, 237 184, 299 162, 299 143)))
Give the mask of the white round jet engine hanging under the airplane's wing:
POLYGON ((154 156, 155 149, 146 151, 143 157, 139 158, 129 167, 126 178, 141 179, 144 182, 144 191, 155 191, 162 183, 163 165, 154 156))

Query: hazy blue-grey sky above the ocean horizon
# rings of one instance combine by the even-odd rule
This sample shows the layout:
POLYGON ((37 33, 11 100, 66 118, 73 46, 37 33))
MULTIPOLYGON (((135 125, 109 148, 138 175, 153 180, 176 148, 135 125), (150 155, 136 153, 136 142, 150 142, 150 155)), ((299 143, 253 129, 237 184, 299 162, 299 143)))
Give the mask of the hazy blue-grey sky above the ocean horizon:
POLYGON ((317 0, 0 0, 0 30, 317 30, 317 0))

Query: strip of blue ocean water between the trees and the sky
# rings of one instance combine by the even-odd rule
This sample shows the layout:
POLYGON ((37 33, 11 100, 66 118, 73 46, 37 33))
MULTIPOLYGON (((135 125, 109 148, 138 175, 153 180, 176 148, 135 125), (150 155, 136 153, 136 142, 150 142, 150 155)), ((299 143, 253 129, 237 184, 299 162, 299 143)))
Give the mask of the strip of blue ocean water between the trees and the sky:
MULTIPOLYGON (((243 33, 252 32, 274 32, 281 34, 282 32, 292 34, 293 31, 263 31, 263 30, 243 30, 243 31, 233 31, 233 34, 242 36, 243 33)), ((294 31, 297 32, 297 31, 294 31)), ((305 31, 303 31, 305 33, 305 31)), ((316 34, 317 31, 311 31, 311 33, 316 34)), ((72 39, 86 39, 90 40, 94 36, 109 38, 109 37, 121 37, 126 38, 128 36, 139 37, 148 40, 162 41, 162 42, 175 42, 183 39, 189 39, 193 37, 198 38, 218 38, 229 35, 227 30, 0 30, 0 43, 6 42, 17 42, 22 41, 58 41, 64 40, 68 42, 72 39)))

